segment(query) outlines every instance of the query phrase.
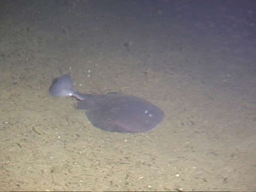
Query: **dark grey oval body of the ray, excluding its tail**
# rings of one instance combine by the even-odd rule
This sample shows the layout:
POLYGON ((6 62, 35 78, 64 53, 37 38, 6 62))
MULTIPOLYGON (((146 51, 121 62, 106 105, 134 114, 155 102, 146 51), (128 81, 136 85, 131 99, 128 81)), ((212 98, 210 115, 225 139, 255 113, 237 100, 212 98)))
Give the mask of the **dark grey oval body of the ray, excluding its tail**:
POLYGON ((154 129, 164 113, 150 102, 123 94, 90 95, 78 101, 91 123, 105 131, 138 133, 154 129))

